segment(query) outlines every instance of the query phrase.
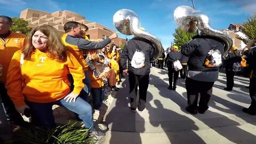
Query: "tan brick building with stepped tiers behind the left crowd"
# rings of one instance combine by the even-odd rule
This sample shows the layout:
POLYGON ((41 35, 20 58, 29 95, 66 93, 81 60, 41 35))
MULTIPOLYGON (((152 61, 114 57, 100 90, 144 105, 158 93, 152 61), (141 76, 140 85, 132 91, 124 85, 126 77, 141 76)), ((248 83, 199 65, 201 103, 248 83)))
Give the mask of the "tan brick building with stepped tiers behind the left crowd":
MULTIPOLYGON (((89 27, 86 35, 90 39, 105 39, 111 34, 115 33, 114 30, 100 25, 97 22, 91 22, 86 20, 83 15, 67 10, 49 13, 44 11, 26 9, 21 11, 20 18, 27 20, 29 22, 29 27, 31 28, 36 28, 37 26, 43 24, 51 25, 60 32, 60 35, 64 34, 65 31, 63 29, 63 26, 68 21, 77 21, 89 27)), ((111 43, 121 45, 124 42, 125 39, 118 37, 113 39, 111 43)))

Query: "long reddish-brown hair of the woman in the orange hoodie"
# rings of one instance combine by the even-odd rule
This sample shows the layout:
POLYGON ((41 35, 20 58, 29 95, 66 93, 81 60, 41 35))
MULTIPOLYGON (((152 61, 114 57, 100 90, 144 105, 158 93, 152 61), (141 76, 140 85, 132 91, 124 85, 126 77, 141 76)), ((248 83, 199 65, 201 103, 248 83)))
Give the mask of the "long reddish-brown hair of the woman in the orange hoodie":
POLYGON ((22 50, 24 54, 24 58, 27 60, 31 60, 31 54, 34 52, 35 47, 32 44, 32 37, 39 30, 44 33, 48 38, 48 46, 46 50, 46 54, 49 58, 57 59, 57 61, 64 62, 67 60, 66 47, 63 46, 61 42, 61 37, 58 34, 58 30, 50 25, 42 25, 36 27, 33 31, 28 35, 28 43, 25 48, 22 50))

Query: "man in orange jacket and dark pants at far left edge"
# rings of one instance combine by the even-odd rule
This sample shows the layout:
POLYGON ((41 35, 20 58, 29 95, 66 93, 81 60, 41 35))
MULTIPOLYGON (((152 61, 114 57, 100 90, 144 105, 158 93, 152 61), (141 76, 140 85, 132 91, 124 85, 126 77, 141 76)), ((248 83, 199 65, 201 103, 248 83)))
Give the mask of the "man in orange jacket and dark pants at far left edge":
POLYGON ((14 52, 25 46, 26 36, 13 33, 9 29, 12 26, 12 19, 5 15, 0 15, 0 63, 3 67, 0 76, 0 95, 4 107, 5 115, 9 118, 9 123, 25 126, 21 115, 15 110, 12 100, 5 89, 7 70, 14 52))

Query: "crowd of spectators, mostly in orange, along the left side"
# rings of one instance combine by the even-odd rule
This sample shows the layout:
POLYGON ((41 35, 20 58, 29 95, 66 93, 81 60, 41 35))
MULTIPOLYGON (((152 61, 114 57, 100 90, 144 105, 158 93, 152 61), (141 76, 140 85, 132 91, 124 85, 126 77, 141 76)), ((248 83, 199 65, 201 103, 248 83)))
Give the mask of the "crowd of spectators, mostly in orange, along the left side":
POLYGON ((26 127, 21 115, 31 113, 31 123, 55 127, 52 106, 59 105, 73 111, 90 134, 104 137, 94 128, 93 113, 99 113, 105 86, 119 89, 120 49, 109 45, 116 33, 89 39, 87 26, 70 21, 62 36, 41 25, 26 37, 11 26, 12 19, 0 15, 0 94, 9 123, 26 127))

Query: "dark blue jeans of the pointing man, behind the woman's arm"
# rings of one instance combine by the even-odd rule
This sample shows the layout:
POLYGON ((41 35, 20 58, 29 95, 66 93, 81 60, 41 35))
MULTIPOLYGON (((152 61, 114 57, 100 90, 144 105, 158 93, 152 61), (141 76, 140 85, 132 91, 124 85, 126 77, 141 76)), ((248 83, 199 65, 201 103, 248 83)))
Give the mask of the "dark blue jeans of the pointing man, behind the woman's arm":
MULTIPOLYGON (((84 71, 85 79, 83 79, 83 83, 85 84, 83 90, 80 92, 79 97, 83 100, 89 102, 90 101, 90 92, 91 92, 91 79, 88 70, 84 71)), ((71 74, 68 74, 68 81, 70 82, 70 91, 74 89, 74 79, 71 74)))

